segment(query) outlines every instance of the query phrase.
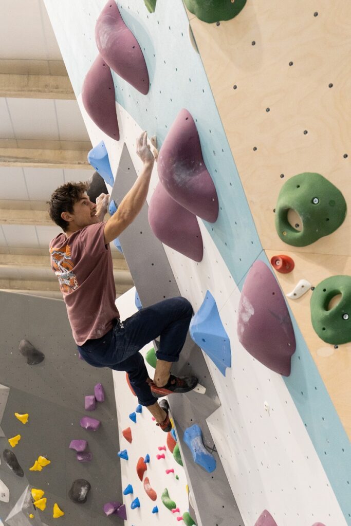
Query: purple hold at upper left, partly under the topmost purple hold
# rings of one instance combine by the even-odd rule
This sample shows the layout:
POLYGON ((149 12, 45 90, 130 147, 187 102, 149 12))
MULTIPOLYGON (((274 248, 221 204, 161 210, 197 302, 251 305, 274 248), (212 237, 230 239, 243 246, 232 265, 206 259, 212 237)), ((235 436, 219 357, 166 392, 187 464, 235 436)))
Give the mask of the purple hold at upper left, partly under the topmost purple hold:
POLYGON ((115 86, 111 69, 97 56, 84 79, 82 100, 89 117, 106 135, 119 140, 115 86))

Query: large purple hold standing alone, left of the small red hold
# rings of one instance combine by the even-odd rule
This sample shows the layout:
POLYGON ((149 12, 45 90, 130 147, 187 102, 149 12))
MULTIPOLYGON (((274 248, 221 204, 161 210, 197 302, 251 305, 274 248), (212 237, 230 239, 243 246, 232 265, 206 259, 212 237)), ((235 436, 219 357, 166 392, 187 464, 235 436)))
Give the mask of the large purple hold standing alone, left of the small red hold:
POLYGON ((256 261, 245 279, 237 333, 256 360, 280 375, 290 375, 294 329, 278 282, 263 261, 256 261))

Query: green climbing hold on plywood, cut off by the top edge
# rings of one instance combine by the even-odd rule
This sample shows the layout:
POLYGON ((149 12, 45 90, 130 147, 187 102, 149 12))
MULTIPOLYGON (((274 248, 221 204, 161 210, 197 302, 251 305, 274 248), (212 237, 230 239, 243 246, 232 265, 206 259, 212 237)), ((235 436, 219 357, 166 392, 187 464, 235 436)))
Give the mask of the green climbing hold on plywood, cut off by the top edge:
POLYGON ((190 13, 208 24, 230 20, 240 13, 246 0, 184 0, 190 13))

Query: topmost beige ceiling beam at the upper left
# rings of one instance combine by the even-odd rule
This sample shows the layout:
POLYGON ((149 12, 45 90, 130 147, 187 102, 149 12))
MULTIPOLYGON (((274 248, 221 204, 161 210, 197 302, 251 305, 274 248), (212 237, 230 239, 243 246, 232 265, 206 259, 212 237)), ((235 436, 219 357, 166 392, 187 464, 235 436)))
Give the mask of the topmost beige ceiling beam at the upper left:
POLYGON ((0 73, 0 97, 75 100, 69 77, 0 73))

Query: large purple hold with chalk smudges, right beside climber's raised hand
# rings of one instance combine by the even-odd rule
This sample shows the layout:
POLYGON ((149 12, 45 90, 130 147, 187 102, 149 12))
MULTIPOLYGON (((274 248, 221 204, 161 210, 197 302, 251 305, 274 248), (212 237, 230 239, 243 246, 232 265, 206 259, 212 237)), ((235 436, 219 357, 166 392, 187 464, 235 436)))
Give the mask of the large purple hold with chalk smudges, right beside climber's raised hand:
POLYGON ((201 151, 193 117, 182 109, 159 151, 158 175, 168 194, 193 214, 215 222, 218 197, 201 151))

